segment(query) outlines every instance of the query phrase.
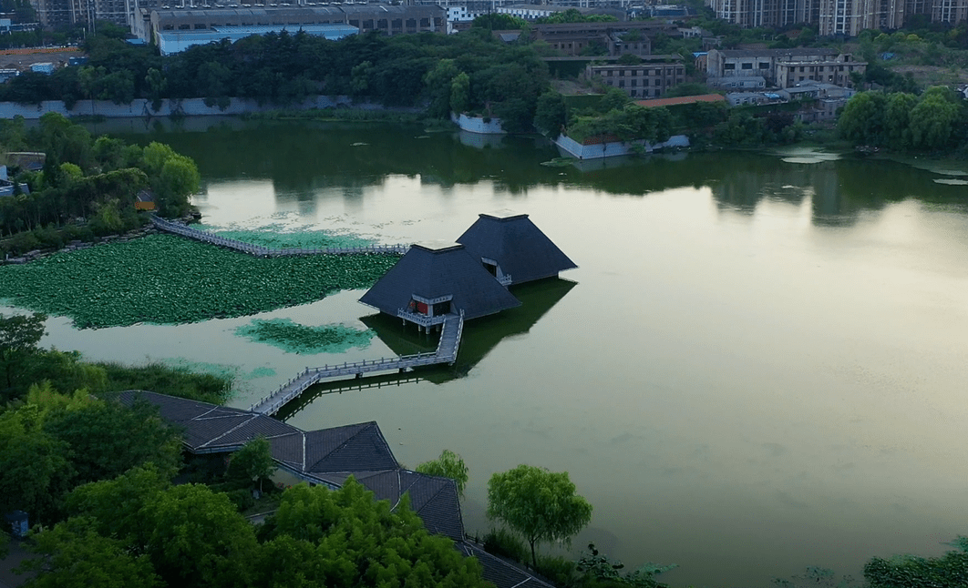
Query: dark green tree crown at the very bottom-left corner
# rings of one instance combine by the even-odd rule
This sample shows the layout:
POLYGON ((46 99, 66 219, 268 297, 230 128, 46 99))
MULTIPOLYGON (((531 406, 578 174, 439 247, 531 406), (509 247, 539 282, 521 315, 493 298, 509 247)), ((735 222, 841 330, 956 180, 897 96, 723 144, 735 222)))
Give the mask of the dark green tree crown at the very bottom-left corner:
POLYGON ((28 559, 20 572, 38 575, 31 588, 90 588, 105 586, 161 587, 161 578, 147 556, 132 554, 125 544, 102 537, 88 518, 70 518, 33 536, 28 559))

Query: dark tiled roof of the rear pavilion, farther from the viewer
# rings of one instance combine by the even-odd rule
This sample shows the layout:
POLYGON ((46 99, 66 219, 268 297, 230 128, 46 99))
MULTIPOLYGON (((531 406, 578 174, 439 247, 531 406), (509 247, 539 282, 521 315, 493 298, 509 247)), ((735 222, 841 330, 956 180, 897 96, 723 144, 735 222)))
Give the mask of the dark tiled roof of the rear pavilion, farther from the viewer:
POLYGON ((551 278, 578 267, 528 215, 507 211, 479 215, 457 242, 475 259, 497 261, 501 271, 510 275, 511 283, 551 278))

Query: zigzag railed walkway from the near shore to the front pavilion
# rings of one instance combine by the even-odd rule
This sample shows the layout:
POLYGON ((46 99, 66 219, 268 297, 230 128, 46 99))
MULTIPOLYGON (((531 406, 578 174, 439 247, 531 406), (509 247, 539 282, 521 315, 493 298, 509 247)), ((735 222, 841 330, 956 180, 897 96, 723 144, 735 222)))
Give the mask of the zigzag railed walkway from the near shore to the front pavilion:
POLYGON ((448 314, 440 330, 440 340, 437 351, 402 355, 399 357, 381 358, 378 360, 363 360, 351 364, 323 366, 322 368, 306 368, 296 377, 289 380, 273 394, 262 398, 249 410, 272 416, 293 398, 299 397, 310 386, 327 378, 351 375, 357 378, 365 373, 376 371, 408 371, 420 366, 435 366, 438 364, 453 364, 457 360, 457 351, 464 334, 464 312, 448 314))

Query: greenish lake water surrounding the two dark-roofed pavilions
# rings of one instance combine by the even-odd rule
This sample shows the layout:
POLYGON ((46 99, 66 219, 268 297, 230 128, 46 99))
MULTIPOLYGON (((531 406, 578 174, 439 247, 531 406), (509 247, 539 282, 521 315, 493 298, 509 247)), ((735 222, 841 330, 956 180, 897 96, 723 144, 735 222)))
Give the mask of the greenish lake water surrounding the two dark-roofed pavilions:
MULTIPOLYGON (((216 229, 412 243, 511 209, 578 264, 469 323, 454 368, 321 390, 287 416, 377 421, 411 467, 461 454, 471 535, 487 528, 488 478, 519 463, 567 470, 594 506, 573 552, 594 541, 630 567, 679 564, 663 576, 677 586, 859 576, 871 556, 940 554, 968 534, 963 168, 806 149, 556 167, 541 140, 411 127, 94 128, 195 158, 216 229)), ((248 407, 305 367, 433 345, 361 294, 182 326, 55 317, 45 343, 227 370, 248 407), (253 319, 376 336, 294 353, 241 337, 253 319)))

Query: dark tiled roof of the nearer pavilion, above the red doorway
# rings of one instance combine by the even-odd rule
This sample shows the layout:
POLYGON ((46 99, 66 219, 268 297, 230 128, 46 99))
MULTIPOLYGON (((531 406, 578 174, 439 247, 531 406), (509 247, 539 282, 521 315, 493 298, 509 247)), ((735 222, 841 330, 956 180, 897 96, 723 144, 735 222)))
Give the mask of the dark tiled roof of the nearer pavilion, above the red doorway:
POLYGON ((460 244, 414 245, 360 302, 396 316, 414 294, 428 300, 453 296, 451 309, 464 310, 465 319, 521 305, 460 244))

